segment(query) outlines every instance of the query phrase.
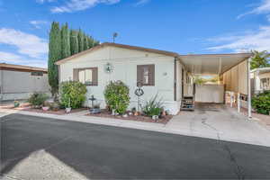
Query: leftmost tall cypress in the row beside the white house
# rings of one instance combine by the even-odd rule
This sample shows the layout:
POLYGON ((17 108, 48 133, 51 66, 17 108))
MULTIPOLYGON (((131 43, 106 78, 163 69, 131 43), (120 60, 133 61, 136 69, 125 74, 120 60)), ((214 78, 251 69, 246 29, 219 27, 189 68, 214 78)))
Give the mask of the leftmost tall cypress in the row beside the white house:
POLYGON ((49 58, 48 58, 48 77, 50 91, 56 99, 58 94, 58 66, 55 62, 62 58, 61 54, 61 32, 59 23, 51 23, 49 31, 49 58))

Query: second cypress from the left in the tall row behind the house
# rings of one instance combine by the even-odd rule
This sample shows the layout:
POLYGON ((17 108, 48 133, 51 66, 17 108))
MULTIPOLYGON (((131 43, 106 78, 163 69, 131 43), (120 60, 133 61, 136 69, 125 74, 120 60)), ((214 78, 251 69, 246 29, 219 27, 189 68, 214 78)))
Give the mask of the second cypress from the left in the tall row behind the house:
POLYGON ((67 58, 71 55, 70 53, 70 32, 68 30, 67 23, 61 28, 61 52, 62 58, 67 58))

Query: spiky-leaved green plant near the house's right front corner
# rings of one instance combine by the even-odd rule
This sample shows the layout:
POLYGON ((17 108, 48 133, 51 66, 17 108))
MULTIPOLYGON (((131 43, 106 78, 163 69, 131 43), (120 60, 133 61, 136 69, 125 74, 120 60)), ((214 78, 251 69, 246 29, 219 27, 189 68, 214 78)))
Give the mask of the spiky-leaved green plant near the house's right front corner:
POLYGON ((160 115, 163 108, 163 102, 161 99, 157 100, 157 94, 151 98, 145 105, 142 107, 142 112, 150 117, 153 115, 160 115))

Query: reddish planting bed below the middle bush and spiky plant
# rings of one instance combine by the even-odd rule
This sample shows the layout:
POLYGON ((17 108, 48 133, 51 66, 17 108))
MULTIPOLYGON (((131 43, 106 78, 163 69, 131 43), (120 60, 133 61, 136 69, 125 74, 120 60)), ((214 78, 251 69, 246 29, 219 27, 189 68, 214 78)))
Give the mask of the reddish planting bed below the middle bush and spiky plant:
POLYGON ((94 117, 103 117, 103 118, 113 118, 118 120, 131 120, 131 121, 144 121, 144 122, 154 122, 154 123, 162 123, 166 124, 173 118, 173 115, 166 115, 165 117, 158 119, 157 121, 152 120, 152 118, 144 115, 129 115, 129 117, 122 117, 121 115, 112 115, 112 112, 108 112, 106 110, 102 110, 101 113, 87 113, 86 116, 94 116, 94 117))

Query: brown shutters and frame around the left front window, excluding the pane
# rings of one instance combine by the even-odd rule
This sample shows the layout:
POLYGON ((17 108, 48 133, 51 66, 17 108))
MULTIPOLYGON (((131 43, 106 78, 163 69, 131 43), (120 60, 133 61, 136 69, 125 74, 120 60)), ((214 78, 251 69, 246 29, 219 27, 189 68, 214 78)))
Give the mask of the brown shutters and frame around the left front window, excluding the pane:
POLYGON ((84 67, 84 68, 74 68, 73 69, 73 80, 79 81, 79 71, 82 70, 92 70, 92 84, 85 83, 86 86, 98 86, 98 67, 84 67))

